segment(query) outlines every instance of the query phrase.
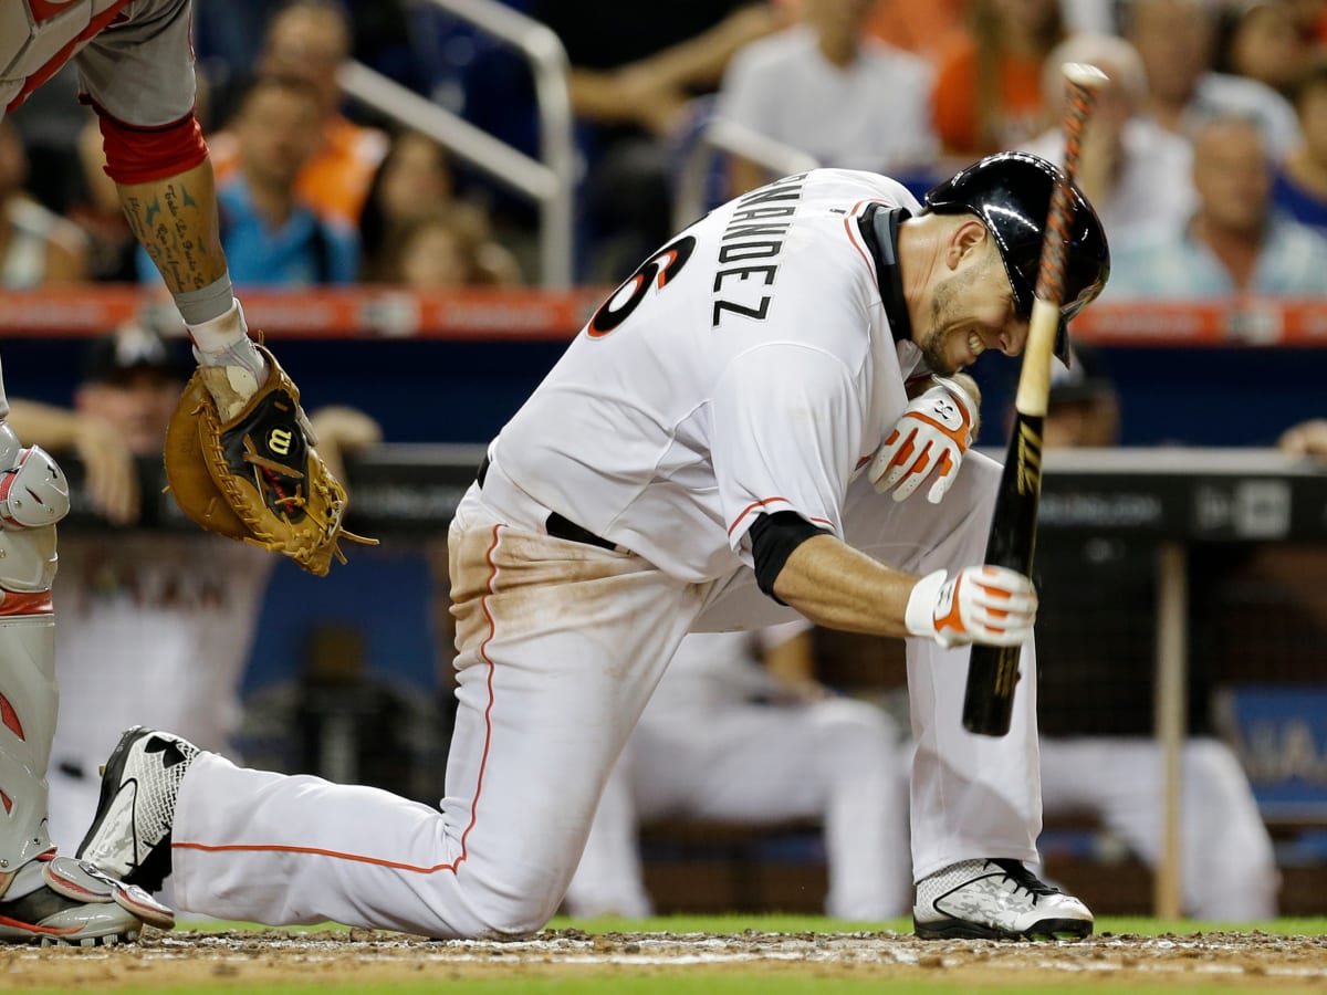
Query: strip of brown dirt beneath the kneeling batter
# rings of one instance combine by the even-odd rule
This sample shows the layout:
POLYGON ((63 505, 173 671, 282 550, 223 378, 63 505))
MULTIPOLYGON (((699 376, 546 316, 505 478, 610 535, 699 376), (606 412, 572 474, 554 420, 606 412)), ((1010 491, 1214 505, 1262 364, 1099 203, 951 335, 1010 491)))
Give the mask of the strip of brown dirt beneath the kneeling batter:
POLYGON ((897 933, 606 933, 547 930, 522 942, 426 941, 369 930, 206 933, 150 930, 133 946, 0 949, 0 990, 203 983, 390 982, 421 971, 455 978, 706 970, 813 976, 930 978, 954 983, 1139 984, 1223 980, 1235 990, 1327 984, 1327 938, 1266 933, 1103 934, 1078 943, 930 941, 897 933))

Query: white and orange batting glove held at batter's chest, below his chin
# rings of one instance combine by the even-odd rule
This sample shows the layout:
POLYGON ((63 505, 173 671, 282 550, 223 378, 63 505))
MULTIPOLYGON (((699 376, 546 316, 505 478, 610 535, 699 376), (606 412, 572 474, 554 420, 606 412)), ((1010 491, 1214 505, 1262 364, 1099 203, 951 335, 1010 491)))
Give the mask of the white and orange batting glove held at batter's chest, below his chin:
POLYGON ((973 444, 977 403, 957 381, 934 379, 937 386, 908 405, 867 471, 876 491, 893 490, 896 501, 934 479, 926 500, 940 504, 973 444))

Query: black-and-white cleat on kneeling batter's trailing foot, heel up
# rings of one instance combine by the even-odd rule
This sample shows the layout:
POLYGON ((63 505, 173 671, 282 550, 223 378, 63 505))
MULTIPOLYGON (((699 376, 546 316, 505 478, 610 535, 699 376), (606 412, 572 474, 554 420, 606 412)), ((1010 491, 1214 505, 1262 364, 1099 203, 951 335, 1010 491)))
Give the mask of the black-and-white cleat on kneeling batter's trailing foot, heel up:
POLYGON ((196 746, 186 739, 134 726, 125 730, 102 768, 101 797, 78 856, 149 892, 171 872, 175 800, 196 746))

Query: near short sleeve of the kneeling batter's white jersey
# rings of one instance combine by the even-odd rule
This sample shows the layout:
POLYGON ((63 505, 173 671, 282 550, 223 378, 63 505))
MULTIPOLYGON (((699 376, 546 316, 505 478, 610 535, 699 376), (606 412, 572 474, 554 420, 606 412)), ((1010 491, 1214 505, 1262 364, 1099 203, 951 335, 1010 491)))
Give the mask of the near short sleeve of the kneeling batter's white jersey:
POLYGON ((841 360, 802 344, 735 357, 713 402, 713 460, 729 544, 760 513, 792 511, 843 536, 863 405, 841 360))

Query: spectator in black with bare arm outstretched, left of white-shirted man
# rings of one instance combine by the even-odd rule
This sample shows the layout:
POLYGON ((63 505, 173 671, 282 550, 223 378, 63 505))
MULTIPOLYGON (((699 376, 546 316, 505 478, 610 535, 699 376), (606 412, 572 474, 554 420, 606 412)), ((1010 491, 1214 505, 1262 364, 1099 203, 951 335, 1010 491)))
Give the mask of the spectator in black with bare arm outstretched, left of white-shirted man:
POLYGON ((714 93, 739 48, 787 24, 774 3, 535 0, 571 60, 572 110, 581 123, 581 186, 591 283, 617 283, 673 231, 671 154, 691 100, 714 93))

